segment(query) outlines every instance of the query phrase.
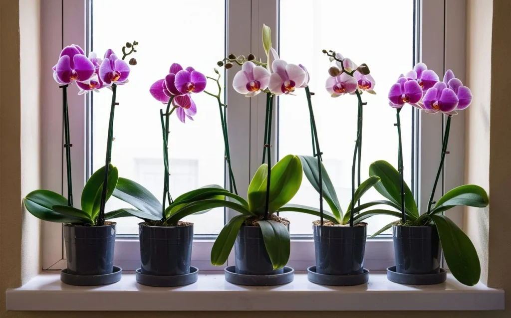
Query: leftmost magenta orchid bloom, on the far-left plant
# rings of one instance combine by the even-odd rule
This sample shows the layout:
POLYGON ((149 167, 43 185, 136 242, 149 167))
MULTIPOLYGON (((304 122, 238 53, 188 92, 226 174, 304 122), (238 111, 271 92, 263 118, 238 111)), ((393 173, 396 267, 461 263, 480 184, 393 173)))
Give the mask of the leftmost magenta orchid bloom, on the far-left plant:
POLYGON ((94 65, 84 55, 82 48, 72 44, 60 52, 59 60, 53 67, 53 78, 59 85, 66 85, 73 81, 87 81, 94 72, 94 65))

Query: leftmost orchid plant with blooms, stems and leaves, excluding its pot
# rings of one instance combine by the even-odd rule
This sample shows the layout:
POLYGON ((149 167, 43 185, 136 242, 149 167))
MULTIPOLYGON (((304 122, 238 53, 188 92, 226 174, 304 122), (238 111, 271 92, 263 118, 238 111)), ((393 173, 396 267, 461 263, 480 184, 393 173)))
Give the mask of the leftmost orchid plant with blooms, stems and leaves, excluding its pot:
MULTIPOLYGON (((103 226, 105 219, 115 217, 119 210, 105 213, 106 201, 110 198, 113 189, 117 185, 119 173, 116 167, 110 164, 113 131, 113 110, 117 85, 127 83, 130 68, 124 59, 136 52, 135 45, 138 42, 126 43, 123 47, 123 58, 119 59, 112 50, 107 50, 104 58, 100 59, 97 54, 91 52, 85 56, 82 48, 76 44, 66 46, 60 53, 57 64, 53 67, 53 78, 62 89, 63 125, 66 152, 67 172, 67 199, 61 194, 50 190, 35 190, 24 198, 24 205, 34 216, 50 222, 103 226), (131 51, 126 54, 125 48, 131 51), (69 112, 67 105, 67 87, 75 83, 80 88, 79 94, 89 91, 99 91, 102 88, 112 90, 112 105, 110 122, 108 127, 108 142, 105 166, 98 169, 87 180, 82 196, 81 209, 74 207, 73 182, 71 165, 71 137, 69 136, 69 112), (106 186, 105 186, 106 185, 106 186)), ((130 60, 131 65, 136 64, 135 59, 130 60)))

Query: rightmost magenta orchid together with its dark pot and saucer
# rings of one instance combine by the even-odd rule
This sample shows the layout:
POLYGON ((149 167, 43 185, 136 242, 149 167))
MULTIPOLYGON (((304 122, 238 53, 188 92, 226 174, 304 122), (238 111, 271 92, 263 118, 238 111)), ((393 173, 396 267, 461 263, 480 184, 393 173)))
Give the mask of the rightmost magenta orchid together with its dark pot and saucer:
POLYGON ((396 266, 387 268, 387 277, 392 281, 409 284, 443 282, 446 279, 446 271, 440 268, 440 254, 443 250, 453 276, 462 284, 475 285, 479 281, 481 268, 474 245, 443 212, 456 206, 486 207, 489 204, 486 191, 477 185, 462 185, 448 191, 436 202, 433 201, 448 153, 451 119, 458 111, 469 107, 472 93, 455 78, 451 70, 446 72, 440 82, 434 71, 427 69, 424 63, 418 63, 392 85, 388 98, 397 116, 398 170, 385 161, 376 161, 369 167, 369 175, 381 178, 381 183, 375 188, 389 200, 388 205, 397 206, 401 211, 400 221, 388 224, 375 234, 392 227, 396 266), (447 116, 438 170, 427 211, 423 214, 419 213, 413 194, 403 180, 399 113, 405 104, 425 113, 442 113, 447 116))

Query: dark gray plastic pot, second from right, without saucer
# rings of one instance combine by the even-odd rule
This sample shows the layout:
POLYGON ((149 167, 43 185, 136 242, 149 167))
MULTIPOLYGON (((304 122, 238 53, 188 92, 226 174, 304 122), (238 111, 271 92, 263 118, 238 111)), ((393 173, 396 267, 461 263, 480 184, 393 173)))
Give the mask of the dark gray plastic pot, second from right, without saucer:
POLYGON ((354 275, 364 272, 367 224, 349 226, 313 225, 316 273, 354 275))

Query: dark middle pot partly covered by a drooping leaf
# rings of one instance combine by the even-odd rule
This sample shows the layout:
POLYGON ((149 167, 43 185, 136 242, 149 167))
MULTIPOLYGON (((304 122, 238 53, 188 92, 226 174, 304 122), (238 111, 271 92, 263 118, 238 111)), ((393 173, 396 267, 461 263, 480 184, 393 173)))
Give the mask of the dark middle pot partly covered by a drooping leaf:
POLYGON ((284 273, 284 268, 273 270, 260 227, 243 225, 236 238, 234 248, 236 254, 236 273, 245 275, 276 275, 284 273))

